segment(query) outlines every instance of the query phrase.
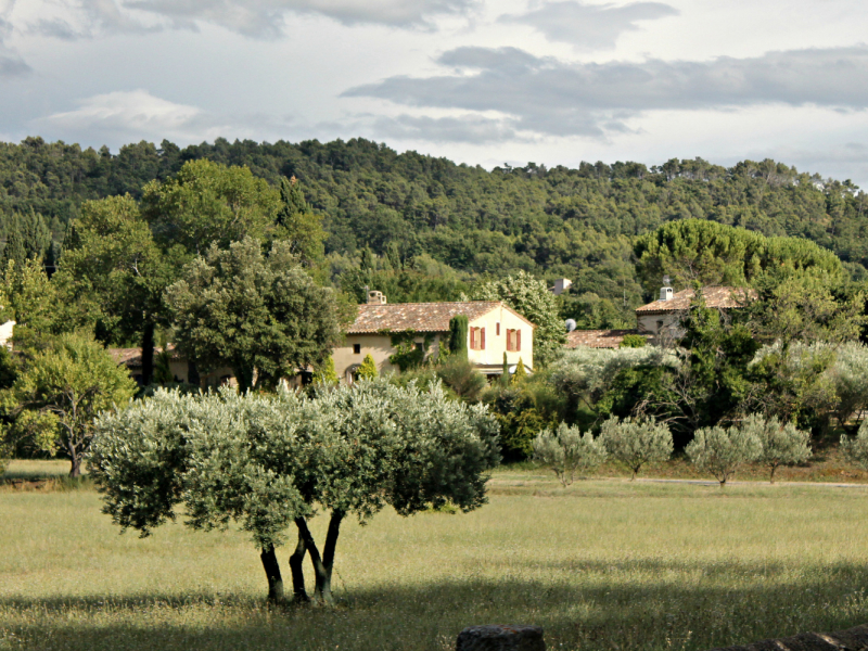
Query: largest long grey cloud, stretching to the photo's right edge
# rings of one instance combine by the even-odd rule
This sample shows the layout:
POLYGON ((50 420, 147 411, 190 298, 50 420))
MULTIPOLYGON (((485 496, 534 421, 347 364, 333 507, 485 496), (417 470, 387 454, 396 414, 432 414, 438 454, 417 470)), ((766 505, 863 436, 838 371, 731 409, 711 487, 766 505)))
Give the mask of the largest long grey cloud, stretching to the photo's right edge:
POLYGON ((791 50, 712 61, 572 63, 515 48, 458 48, 439 63, 450 75, 390 77, 345 97, 418 108, 496 111, 549 136, 602 137, 625 119, 661 110, 765 104, 868 107, 868 47, 791 50))

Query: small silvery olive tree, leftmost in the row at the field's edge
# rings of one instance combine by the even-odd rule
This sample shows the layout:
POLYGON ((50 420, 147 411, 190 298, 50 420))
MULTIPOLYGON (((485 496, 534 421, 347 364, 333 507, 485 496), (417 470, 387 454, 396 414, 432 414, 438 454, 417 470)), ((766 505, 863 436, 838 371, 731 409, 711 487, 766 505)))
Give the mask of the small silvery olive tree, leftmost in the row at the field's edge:
POLYGON ((533 442, 534 459, 548 465, 558 481, 569 486, 576 473, 587 472, 605 461, 605 448, 590 432, 582 434, 575 425, 561 423, 558 432, 544 430, 533 442))

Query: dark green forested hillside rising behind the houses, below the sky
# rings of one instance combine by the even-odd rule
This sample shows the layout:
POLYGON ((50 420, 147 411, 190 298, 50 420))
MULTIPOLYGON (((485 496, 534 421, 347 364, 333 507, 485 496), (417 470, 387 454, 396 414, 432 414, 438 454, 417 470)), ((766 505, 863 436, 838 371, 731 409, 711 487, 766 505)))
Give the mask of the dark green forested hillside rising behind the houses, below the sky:
POLYGON ((141 142, 117 155, 40 138, 0 143, 3 240, 17 228, 41 241, 50 230, 60 243, 81 202, 123 193, 140 199, 146 182, 197 158, 246 165, 271 184, 295 176, 323 216, 332 281, 348 291, 375 283, 396 299, 455 297, 476 276, 524 269, 572 279, 574 295, 591 292, 604 304, 602 312, 612 312, 588 326, 614 324, 656 282, 644 278, 642 284, 637 276, 635 237, 686 218, 806 238, 837 253, 855 278, 868 275, 866 194, 850 181, 822 180, 774 161, 731 168, 702 159, 651 168, 528 163, 488 171, 360 139, 218 139, 186 149, 141 142))

